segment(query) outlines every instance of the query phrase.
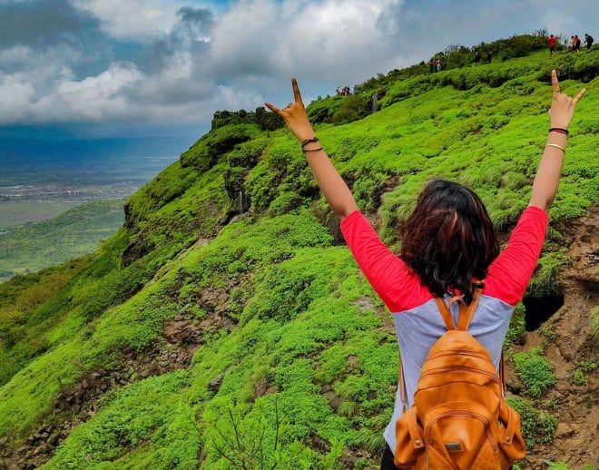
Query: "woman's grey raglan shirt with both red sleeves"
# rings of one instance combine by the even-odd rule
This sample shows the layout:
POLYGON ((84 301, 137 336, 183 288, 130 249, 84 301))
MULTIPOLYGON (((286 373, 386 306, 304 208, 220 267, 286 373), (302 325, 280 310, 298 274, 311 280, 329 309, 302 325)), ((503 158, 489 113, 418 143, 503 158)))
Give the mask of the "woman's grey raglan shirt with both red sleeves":
MULTIPOLYGON (((536 207, 526 209, 506 249, 487 269, 483 295, 468 331, 489 351, 497 368, 512 312, 524 296, 543 247, 547 220, 545 211, 536 207)), ((408 406, 411 406, 428 350, 447 331, 434 294, 413 269, 388 250, 360 212, 355 211, 343 220, 341 230, 358 266, 395 321, 408 406)), ((452 313, 457 321, 457 305, 454 306, 452 313)), ((391 448, 395 445, 394 424, 401 414, 402 403, 397 396, 385 430, 391 448)))

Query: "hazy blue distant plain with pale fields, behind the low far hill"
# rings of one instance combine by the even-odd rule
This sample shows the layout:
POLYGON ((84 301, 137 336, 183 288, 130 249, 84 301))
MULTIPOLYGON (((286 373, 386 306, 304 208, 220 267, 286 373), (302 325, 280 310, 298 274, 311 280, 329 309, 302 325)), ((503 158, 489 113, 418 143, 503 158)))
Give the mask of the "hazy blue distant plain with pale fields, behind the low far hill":
POLYGON ((83 201, 126 198, 176 160, 188 143, 173 137, 60 141, 2 137, 0 231, 49 219, 83 201))

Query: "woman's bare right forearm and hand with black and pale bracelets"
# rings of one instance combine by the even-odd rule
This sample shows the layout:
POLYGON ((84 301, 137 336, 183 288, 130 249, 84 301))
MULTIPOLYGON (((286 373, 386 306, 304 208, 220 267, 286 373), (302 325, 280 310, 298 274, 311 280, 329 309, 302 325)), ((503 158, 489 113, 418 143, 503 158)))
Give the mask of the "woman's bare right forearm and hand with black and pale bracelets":
POLYGON ((551 83, 554 88, 554 97, 549 110, 551 127, 543 157, 536 171, 530 202, 528 203, 529 206, 541 208, 545 212, 549 211, 554 201, 559 179, 562 175, 568 125, 572 121, 576 103, 586 91, 584 88, 574 98, 570 98, 565 93, 560 93, 555 70, 551 71, 551 83))

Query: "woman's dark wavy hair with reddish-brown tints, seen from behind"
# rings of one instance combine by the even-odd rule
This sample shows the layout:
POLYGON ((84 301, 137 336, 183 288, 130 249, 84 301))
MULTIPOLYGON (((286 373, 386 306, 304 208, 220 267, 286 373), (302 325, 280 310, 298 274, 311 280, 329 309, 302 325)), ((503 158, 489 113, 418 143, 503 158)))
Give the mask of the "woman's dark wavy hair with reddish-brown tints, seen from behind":
POLYGON ((428 182, 404 226, 401 258, 431 293, 457 290, 469 304, 498 254, 493 222, 476 193, 457 182, 428 182))

